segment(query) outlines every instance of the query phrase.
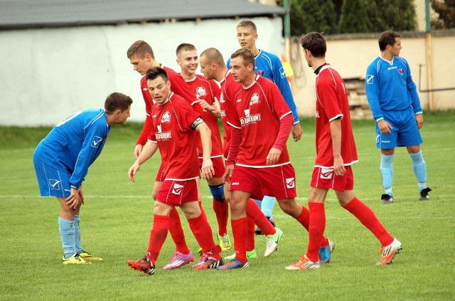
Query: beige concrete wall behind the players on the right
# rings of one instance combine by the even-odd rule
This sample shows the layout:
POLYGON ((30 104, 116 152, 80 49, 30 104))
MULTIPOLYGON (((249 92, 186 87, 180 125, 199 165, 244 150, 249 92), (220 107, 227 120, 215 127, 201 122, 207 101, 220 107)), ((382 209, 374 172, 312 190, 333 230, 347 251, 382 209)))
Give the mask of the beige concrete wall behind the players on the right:
MULTIPOLYGON (((370 62, 380 55, 378 46, 379 34, 362 36, 331 36, 327 41, 326 60, 343 78, 365 78, 366 68, 370 62)), ((432 83, 433 89, 455 88, 455 31, 434 33, 432 45, 432 83)), ((412 78, 417 90, 428 90, 427 48, 424 33, 402 33, 402 51, 400 56, 410 63, 412 78), (419 65, 422 66, 422 76, 419 84, 419 65)), ((292 91, 296 100, 299 114, 313 116, 316 107, 315 83, 313 70, 308 67, 301 46, 296 43, 291 47, 293 57, 297 57, 300 65, 294 64, 294 69, 302 69, 301 77, 292 79, 292 91), (297 53, 299 51, 299 53, 297 53), (299 57, 300 56, 300 57, 299 57)), ((420 93, 422 108, 429 108, 429 98, 433 97, 435 110, 455 109, 455 90, 433 93, 420 93)))

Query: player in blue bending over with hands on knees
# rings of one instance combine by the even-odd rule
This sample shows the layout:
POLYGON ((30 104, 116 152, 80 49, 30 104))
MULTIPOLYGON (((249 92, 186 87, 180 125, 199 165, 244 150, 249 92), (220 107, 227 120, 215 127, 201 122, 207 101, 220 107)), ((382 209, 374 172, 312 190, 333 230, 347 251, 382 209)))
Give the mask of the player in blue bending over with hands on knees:
POLYGON ((82 181, 88 167, 100 156, 112 125, 127 121, 132 102, 131 97, 122 93, 108 95, 104 110, 82 110, 66 117, 33 153, 41 196, 56 196, 61 205, 58 228, 65 265, 102 260, 85 252, 80 243, 82 181))

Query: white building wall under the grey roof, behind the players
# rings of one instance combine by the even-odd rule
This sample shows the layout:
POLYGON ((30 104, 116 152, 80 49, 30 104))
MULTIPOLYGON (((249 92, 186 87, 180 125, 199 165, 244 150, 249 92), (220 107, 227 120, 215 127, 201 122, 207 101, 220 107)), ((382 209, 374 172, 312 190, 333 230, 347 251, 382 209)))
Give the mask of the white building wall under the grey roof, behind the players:
MULTIPOLYGON (((154 49, 159 63, 178 70, 175 49, 193 43, 198 51, 218 48, 225 60, 239 48, 240 20, 124 24, 0 31, 0 125, 55 125, 67 115, 104 105, 106 96, 131 96, 132 117, 144 120, 141 76, 127 49, 139 39, 154 49)), ((253 18, 257 46, 284 52, 282 20, 253 18)))

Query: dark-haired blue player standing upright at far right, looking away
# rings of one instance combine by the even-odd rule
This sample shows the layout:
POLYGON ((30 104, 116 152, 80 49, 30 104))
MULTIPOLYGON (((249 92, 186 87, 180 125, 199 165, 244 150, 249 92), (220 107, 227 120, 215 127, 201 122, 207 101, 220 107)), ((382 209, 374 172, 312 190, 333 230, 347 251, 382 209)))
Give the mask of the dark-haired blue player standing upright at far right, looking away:
POLYGON ((381 151, 380 172, 382 204, 394 201, 392 192, 392 160, 395 147, 406 147, 412 168, 419 182, 419 199, 429 200, 427 164, 420 144, 419 129, 424 125, 417 88, 412 81, 410 65, 401 58, 401 36, 395 31, 384 31, 379 38, 380 56, 368 65, 365 90, 376 120, 376 147, 381 151))

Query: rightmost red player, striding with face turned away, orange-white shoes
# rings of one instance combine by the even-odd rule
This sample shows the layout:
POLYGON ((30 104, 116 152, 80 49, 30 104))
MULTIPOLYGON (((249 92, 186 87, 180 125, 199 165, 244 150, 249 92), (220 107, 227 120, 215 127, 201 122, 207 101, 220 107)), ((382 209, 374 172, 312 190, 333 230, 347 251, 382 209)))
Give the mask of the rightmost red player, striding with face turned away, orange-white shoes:
POLYGON ((309 245, 306 255, 287 270, 319 268, 318 249, 326 228, 324 201, 328 189, 335 191, 339 204, 353 214, 382 245, 378 265, 392 262, 402 245, 391 236, 375 213, 354 194, 351 165, 358 162, 346 87, 341 76, 326 63, 326 40, 320 33, 300 38, 305 59, 316 74, 316 160, 308 197, 309 245))

